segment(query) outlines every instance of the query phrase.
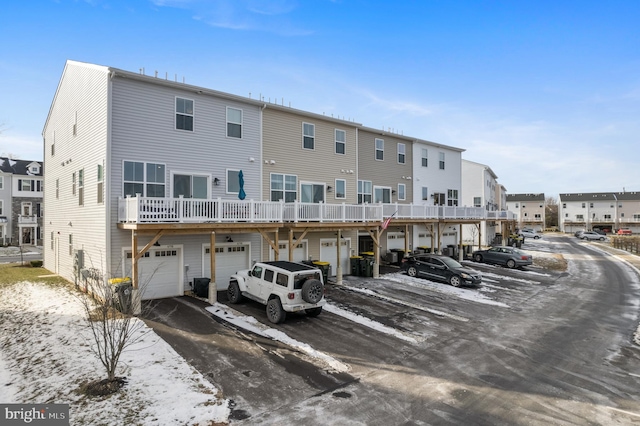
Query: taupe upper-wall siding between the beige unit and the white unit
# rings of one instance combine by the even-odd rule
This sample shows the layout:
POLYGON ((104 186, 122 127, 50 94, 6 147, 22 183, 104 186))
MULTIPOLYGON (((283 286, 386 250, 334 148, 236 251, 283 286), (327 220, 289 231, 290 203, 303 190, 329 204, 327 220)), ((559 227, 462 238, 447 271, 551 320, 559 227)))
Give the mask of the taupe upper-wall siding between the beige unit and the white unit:
POLYGON ((368 180, 373 186, 398 189, 398 184, 405 184, 406 196, 398 200, 398 194, 393 194, 392 202, 411 203, 413 200, 413 145, 406 138, 393 134, 375 132, 373 130, 358 130, 358 179, 368 180), (376 139, 384 140, 384 160, 375 158, 376 139), (398 143, 405 144, 405 162, 398 164, 398 143), (408 179, 411 177, 411 179, 408 179))

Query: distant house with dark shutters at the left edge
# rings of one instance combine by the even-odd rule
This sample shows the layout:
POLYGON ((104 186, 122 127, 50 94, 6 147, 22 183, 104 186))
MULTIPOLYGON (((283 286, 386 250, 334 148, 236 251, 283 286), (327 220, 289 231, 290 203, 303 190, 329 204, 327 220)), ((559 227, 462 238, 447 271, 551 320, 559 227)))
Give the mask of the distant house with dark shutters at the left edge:
POLYGON ((0 243, 40 245, 43 163, 0 157, 0 243))

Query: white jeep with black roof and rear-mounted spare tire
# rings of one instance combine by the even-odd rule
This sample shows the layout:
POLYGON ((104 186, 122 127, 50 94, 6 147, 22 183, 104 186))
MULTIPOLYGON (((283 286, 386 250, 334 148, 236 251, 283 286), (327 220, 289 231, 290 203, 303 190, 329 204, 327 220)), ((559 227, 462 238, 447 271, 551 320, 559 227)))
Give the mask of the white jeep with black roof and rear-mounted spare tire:
POLYGON ((267 305, 267 318, 275 324, 284 321, 287 312, 316 317, 326 303, 320 269, 288 261, 258 262, 231 275, 227 296, 231 303, 246 296, 267 305))

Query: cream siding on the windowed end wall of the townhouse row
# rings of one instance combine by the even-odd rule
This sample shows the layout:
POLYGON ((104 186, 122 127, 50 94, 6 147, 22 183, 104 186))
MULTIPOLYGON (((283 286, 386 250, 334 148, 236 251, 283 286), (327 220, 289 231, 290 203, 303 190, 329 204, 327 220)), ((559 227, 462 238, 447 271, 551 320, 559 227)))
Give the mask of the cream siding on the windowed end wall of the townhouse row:
POLYGON ((73 281, 72 249, 85 252, 85 266, 108 272, 106 250, 106 209, 97 203, 97 165, 106 159, 107 149, 107 68, 68 62, 43 130, 44 160, 44 266, 73 281), (77 118, 76 118, 77 117, 77 118), (77 120, 77 121, 76 121, 77 120), (76 135, 73 127, 76 124, 76 135), (55 154, 51 144, 55 139, 55 154), (72 190, 72 174, 84 170, 84 204, 79 205, 79 189, 72 190), (59 198, 56 198, 56 180, 59 198), (54 249, 51 248, 51 233, 54 249), (57 246, 57 247, 56 247, 57 246), (59 250, 56 265, 55 250, 59 250))

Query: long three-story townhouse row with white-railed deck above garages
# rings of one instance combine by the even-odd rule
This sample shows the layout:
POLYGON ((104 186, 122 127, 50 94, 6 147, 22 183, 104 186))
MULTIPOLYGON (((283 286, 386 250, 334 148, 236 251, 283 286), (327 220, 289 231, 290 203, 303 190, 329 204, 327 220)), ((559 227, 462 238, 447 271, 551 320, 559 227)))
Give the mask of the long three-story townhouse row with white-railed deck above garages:
POLYGON ((375 276, 420 229, 437 250, 487 217, 462 203, 460 149, 112 67, 67 61, 43 140, 45 267, 130 276, 143 299, 206 278, 215 298, 258 260, 325 261, 339 282, 373 249, 375 276))

